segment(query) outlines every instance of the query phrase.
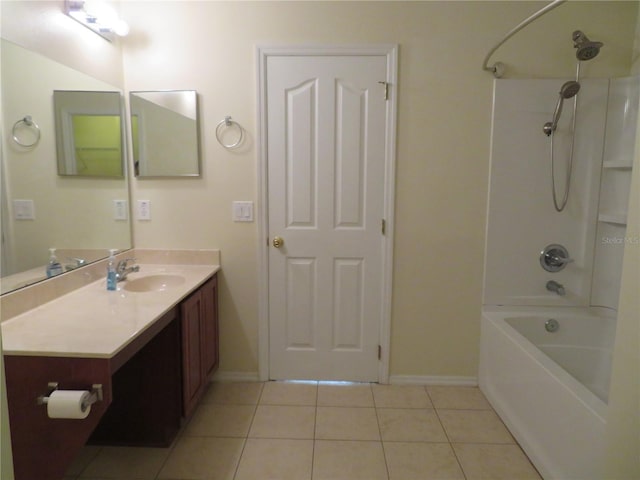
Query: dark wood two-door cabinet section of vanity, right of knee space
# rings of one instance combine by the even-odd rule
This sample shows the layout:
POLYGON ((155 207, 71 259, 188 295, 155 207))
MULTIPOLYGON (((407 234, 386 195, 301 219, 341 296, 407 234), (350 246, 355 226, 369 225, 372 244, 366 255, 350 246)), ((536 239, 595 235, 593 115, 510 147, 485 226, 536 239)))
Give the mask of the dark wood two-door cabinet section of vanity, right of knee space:
POLYGON ((180 304, 182 407, 189 418, 219 363, 218 279, 214 275, 180 304))

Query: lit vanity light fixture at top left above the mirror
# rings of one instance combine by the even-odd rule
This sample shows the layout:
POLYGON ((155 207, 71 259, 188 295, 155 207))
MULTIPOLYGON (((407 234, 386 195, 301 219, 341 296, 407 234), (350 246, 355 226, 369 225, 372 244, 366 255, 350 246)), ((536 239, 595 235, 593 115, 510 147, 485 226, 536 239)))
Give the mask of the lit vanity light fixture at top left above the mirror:
POLYGON ((110 42, 129 33, 127 22, 101 0, 65 0, 65 13, 110 42))

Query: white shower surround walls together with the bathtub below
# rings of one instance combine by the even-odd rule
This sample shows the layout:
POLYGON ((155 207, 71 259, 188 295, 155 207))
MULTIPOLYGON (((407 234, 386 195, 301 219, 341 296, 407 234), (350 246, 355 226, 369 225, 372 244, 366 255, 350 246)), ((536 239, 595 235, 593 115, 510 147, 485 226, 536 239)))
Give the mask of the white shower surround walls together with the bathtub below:
MULTIPOLYGON (((545 479, 595 480, 601 477, 640 82, 580 81, 571 190, 559 213, 543 126, 566 81, 494 84, 479 381, 545 479), (572 261, 549 272, 541 252, 558 244, 572 261), (563 321, 567 317, 571 322, 563 321), (557 331, 545 329, 550 319, 559 320, 557 331), (555 360, 552 351, 560 352, 555 360), (568 367, 587 362, 593 375, 568 367), (595 392, 585 380, 594 377, 595 392)), ((565 102, 554 133, 559 190, 571 148, 573 100, 565 102)))

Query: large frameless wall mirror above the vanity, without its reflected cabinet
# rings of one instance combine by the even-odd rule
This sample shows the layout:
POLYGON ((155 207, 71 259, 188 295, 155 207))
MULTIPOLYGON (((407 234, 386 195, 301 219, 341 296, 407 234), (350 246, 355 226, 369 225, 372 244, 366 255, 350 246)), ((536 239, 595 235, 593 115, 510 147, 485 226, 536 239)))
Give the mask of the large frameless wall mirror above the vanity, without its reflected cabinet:
MULTIPOLYGON (((56 162, 54 91, 110 92, 107 97, 115 100, 116 113, 121 112, 121 93, 112 85, 4 39, 1 49, 0 285, 1 292, 7 293, 46 278, 50 248, 57 249, 58 260, 68 270, 104 258, 110 248, 129 249, 132 240, 125 172, 61 176, 56 162), (12 126, 27 116, 39 128, 39 140, 30 147, 21 146, 12 135, 12 126)), ((72 128, 82 137, 82 129, 89 128, 94 119, 83 118, 90 116, 87 112, 77 113, 79 124, 72 128)), ((118 121, 124 123, 121 113, 118 121)), ((18 133, 27 138, 29 131, 18 133)), ((75 147, 84 148, 84 141, 78 138, 75 147)), ((91 163, 88 157, 83 161, 87 166, 91 163)))

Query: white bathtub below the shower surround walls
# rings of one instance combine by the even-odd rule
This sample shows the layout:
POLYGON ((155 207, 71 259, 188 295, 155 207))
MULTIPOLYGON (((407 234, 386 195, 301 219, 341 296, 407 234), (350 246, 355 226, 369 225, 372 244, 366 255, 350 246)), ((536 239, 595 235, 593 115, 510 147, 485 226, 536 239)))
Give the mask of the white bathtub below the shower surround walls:
POLYGON ((485 307, 480 388, 545 480, 600 480, 615 317, 485 307), (560 328, 547 332, 553 318, 560 328))

